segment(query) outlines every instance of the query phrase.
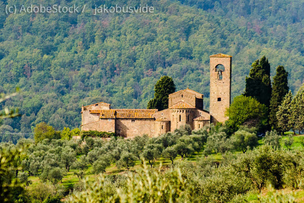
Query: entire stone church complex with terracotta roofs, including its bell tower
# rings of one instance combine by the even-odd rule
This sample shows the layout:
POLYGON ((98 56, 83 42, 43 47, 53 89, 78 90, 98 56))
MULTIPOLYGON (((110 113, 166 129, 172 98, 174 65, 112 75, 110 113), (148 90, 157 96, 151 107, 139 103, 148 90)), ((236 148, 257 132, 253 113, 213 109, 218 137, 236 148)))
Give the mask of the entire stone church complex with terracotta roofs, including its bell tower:
POLYGON ((169 95, 168 109, 111 109, 111 104, 100 102, 81 108, 81 130, 115 132, 132 138, 147 134, 150 137, 174 131, 189 124, 192 130, 210 122, 224 122, 226 108, 231 102, 232 56, 210 56, 210 112, 203 110, 203 95, 184 89, 169 95))

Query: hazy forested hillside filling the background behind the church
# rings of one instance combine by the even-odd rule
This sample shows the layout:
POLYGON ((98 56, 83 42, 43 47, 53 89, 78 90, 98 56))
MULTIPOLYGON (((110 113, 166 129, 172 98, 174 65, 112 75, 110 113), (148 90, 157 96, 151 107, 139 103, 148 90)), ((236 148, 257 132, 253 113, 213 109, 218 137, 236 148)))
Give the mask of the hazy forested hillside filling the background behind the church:
POLYGON ((243 93, 250 65, 265 55, 271 75, 283 65, 293 93, 304 82, 304 4, 278 1, 35 1, 73 5, 83 13, 5 14, 0 0, 0 92, 18 96, 1 105, 22 116, 1 131, 31 132, 45 121, 57 130, 81 122, 81 105, 146 108, 162 75, 176 90, 204 94, 209 109, 209 55, 233 56, 232 97, 243 93), (94 14, 96 5, 148 4, 154 13, 94 14))

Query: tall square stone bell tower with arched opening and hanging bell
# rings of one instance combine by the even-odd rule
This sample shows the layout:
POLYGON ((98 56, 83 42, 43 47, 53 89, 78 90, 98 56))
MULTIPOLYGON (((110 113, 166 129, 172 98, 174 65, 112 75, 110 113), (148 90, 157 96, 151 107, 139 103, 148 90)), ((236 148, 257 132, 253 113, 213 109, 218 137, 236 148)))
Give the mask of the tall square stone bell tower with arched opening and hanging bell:
POLYGON ((216 54, 210 56, 210 114, 211 121, 224 123, 226 108, 231 103, 232 56, 216 54))

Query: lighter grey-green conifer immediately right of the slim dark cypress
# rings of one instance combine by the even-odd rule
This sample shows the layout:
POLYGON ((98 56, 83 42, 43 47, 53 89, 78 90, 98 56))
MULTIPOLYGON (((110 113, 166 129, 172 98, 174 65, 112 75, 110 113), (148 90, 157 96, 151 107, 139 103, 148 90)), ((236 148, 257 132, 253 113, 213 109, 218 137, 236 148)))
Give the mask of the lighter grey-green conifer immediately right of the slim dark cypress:
POLYGON ((293 128, 294 122, 292 120, 292 93, 289 92, 284 96, 282 104, 278 107, 276 113, 277 127, 281 129, 282 135, 284 132, 293 128))

